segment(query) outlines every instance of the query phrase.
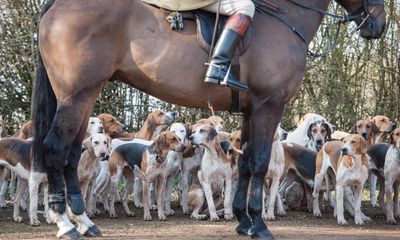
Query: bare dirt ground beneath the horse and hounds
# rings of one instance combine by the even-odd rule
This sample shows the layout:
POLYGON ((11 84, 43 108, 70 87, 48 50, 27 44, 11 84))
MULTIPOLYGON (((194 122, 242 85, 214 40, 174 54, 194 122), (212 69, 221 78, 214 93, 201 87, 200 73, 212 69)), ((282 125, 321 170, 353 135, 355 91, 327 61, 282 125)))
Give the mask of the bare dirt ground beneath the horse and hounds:
MULTIPOLYGON (((119 219, 109 219, 105 214, 95 219, 103 232, 101 239, 249 239, 236 235, 236 222, 194 221, 183 216, 180 210, 165 222, 144 222, 141 210, 135 209, 137 216, 128 218, 123 216, 120 206, 117 209, 121 215, 119 219)), ((290 211, 288 216, 278 217, 268 226, 277 239, 400 239, 400 226, 387 225, 380 209, 364 209, 373 222, 362 227, 355 226, 349 216, 346 216, 349 226, 343 227, 336 224, 331 212, 317 219, 311 213, 302 211, 290 211)), ((54 238, 57 231, 55 225, 31 227, 25 212, 23 218, 24 223, 14 223, 12 208, 0 209, 0 239, 54 238)), ((44 222, 43 218, 41 220, 44 222)))

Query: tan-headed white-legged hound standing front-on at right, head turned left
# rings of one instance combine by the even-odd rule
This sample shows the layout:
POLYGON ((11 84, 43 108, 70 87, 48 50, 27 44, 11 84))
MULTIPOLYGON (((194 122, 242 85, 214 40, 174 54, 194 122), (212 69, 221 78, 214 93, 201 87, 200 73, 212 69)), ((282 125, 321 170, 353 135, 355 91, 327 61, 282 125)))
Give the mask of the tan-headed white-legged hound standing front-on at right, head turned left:
MULTIPOLYGON (((353 186, 354 194, 354 220, 356 225, 363 225, 365 221, 370 221, 361 212, 361 198, 364 183, 368 179, 368 159, 367 159, 367 142, 364 137, 358 134, 351 134, 344 138, 344 145, 341 148, 342 156, 339 158, 336 173, 336 205, 335 217, 337 216, 338 224, 346 225, 344 218, 343 200, 344 188, 353 186)), ((350 197, 349 197, 350 198, 350 197)))

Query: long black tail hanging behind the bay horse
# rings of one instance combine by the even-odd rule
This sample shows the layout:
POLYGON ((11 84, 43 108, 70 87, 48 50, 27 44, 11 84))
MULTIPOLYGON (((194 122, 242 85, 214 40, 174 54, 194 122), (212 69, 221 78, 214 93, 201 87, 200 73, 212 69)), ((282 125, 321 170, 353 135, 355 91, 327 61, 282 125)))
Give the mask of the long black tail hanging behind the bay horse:
POLYGON ((33 149, 32 157, 34 168, 36 171, 44 171, 44 147, 43 141, 46 138, 51 124, 53 122, 56 110, 57 99, 51 87, 46 68, 43 64, 43 59, 39 50, 39 25, 40 19, 50 9, 55 0, 47 1, 39 15, 37 36, 37 66, 36 66, 36 80, 33 86, 32 96, 32 123, 33 123, 33 149))

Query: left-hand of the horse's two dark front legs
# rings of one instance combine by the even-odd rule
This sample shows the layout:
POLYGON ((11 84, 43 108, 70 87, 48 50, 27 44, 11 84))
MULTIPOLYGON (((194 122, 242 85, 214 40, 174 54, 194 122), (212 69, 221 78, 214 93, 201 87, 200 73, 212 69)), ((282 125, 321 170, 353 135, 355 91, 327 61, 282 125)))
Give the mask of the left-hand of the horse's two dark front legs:
MULTIPOLYGON (((241 145, 247 143, 249 140, 250 133, 250 118, 249 116, 245 116, 242 123, 242 136, 241 136, 241 145)), ((239 181, 237 184, 237 192, 235 194, 235 198, 233 200, 233 213, 239 221, 239 225, 236 227, 236 232, 239 235, 247 235, 250 236, 250 228, 252 227, 251 220, 247 215, 247 189, 249 187, 251 172, 249 166, 249 158, 250 149, 247 147, 244 150, 244 154, 240 155, 238 161, 238 169, 239 169, 239 181)))

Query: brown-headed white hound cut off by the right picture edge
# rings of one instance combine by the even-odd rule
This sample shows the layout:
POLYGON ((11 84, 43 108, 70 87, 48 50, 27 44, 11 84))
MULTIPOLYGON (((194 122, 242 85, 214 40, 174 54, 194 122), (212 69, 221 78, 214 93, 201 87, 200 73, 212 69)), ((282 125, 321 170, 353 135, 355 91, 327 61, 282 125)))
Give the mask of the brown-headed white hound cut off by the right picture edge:
POLYGON ((400 182, 400 128, 390 134, 390 147, 385 157, 385 195, 386 195, 386 221, 396 224, 400 219, 399 208, 399 182, 400 182), (394 193, 394 196, 392 195, 394 193))

